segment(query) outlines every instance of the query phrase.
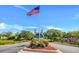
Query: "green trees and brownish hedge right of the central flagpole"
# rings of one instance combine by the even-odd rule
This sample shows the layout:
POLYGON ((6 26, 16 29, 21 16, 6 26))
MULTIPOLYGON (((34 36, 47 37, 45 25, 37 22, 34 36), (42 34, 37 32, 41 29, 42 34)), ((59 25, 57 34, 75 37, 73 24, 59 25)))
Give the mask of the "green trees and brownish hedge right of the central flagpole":
POLYGON ((62 32, 60 30, 50 29, 44 32, 44 38, 49 41, 60 41, 79 45, 79 31, 62 32))

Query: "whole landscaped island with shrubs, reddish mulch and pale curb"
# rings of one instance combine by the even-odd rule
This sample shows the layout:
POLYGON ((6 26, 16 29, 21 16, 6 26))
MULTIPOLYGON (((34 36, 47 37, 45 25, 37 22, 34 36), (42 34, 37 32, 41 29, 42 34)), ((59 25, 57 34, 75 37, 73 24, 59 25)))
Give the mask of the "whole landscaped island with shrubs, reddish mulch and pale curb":
POLYGON ((33 39, 28 47, 25 47, 20 52, 42 52, 42 53, 59 53, 57 48, 49 45, 49 42, 45 39, 33 39))

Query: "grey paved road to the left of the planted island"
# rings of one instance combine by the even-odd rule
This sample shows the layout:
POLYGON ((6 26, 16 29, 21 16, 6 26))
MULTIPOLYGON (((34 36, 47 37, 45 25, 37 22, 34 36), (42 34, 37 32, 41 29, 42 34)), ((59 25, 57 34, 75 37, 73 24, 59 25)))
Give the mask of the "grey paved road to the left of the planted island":
POLYGON ((19 50, 24 48, 29 43, 20 43, 20 44, 13 44, 13 45, 5 45, 0 47, 0 53, 17 53, 19 50))

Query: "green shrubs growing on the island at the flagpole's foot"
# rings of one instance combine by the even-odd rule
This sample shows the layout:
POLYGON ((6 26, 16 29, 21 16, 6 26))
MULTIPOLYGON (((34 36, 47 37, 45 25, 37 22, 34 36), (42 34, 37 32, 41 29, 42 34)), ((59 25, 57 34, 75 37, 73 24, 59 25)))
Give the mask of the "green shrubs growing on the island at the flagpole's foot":
POLYGON ((48 46, 48 41, 45 39, 33 39, 30 43, 30 48, 44 48, 48 46))

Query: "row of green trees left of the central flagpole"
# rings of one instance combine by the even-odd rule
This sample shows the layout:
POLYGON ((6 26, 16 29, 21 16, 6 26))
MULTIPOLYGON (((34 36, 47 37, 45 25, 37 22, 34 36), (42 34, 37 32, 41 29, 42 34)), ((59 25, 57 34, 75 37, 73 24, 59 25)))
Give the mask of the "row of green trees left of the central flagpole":
POLYGON ((34 35, 30 31, 22 30, 21 32, 16 32, 13 34, 12 32, 2 32, 0 34, 0 39, 2 40, 15 40, 15 41, 22 41, 22 40, 31 40, 34 38, 34 35))

